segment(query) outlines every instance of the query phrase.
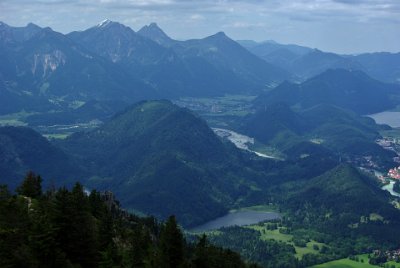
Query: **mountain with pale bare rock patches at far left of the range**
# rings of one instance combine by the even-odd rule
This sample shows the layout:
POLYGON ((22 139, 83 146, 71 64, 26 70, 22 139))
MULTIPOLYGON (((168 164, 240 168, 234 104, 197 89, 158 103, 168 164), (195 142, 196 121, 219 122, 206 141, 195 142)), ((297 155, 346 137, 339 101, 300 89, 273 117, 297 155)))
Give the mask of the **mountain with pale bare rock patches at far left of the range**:
MULTIPOLYGON (((30 25, 16 29, 21 36, 28 37, 14 38, 0 48, 0 78, 5 81, 3 94, 9 96, 10 102, 32 100, 33 105, 27 108, 35 106, 36 109, 48 102, 47 106, 57 109, 74 101, 132 102, 154 96, 151 87, 63 34, 30 25)), ((16 105, 14 112, 22 106, 16 105)))

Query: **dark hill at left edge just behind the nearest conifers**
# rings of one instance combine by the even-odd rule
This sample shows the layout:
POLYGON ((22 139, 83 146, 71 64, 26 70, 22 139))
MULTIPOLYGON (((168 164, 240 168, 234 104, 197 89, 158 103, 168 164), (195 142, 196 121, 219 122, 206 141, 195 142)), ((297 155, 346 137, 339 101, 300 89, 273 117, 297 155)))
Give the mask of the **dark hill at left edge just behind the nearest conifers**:
POLYGON ((0 127, 0 184, 15 189, 29 170, 45 176, 46 186, 69 184, 81 174, 69 156, 39 133, 26 127, 0 127))

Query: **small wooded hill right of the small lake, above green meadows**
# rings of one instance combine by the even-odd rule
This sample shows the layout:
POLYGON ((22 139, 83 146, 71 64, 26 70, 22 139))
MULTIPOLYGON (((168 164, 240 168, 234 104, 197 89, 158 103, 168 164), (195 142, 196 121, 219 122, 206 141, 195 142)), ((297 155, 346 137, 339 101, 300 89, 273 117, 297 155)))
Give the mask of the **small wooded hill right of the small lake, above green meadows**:
POLYGON ((398 244, 398 210, 374 179, 354 167, 339 165, 294 189, 285 206, 304 226, 339 236, 362 234, 381 245, 398 244))

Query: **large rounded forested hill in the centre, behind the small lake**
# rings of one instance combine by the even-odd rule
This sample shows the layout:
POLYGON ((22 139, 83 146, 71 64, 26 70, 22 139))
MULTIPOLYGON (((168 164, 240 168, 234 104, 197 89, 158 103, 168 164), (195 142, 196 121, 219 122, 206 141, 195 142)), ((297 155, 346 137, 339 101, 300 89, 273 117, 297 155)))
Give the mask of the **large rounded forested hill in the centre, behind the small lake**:
POLYGON ((233 145, 169 101, 140 102, 63 147, 90 164, 87 183, 127 208, 193 225, 225 213, 252 185, 233 145))

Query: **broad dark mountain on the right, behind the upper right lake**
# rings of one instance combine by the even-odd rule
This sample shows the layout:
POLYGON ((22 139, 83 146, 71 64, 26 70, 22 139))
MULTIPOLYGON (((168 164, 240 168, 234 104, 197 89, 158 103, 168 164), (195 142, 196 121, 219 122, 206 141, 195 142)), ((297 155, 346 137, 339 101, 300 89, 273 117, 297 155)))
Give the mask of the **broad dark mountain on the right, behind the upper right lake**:
POLYGON ((331 104, 359 114, 372 114, 393 108, 400 87, 370 78, 360 71, 328 70, 301 84, 282 83, 255 100, 258 107, 274 102, 307 109, 331 104))

